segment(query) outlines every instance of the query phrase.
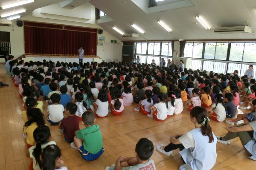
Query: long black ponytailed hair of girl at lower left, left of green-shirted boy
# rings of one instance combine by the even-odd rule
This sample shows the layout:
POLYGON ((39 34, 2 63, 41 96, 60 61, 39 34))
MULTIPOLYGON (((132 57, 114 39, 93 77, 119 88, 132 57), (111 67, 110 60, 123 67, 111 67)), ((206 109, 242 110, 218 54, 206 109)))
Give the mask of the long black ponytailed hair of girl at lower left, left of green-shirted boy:
POLYGON ((41 125, 35 128, 33 136, 36 142, 35 148, 32 152, 32 155, 35 157, 35 161, 41 167, 40 156, 42 154, 42 144, 49 142, 49 137, 51 136, 50 129, 47 125, 41 125))

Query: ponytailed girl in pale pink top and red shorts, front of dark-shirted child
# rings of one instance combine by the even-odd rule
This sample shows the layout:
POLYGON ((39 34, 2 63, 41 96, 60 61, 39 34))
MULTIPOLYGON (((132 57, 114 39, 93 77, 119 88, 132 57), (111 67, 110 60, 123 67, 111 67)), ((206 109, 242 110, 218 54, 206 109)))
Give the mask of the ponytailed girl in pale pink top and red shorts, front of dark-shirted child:
POLYGON ((117 90, 114 94, 115 99, 111 100, 111 111, 114 116, 121 115, 124 112, 124 101, 121 96, 121 91, 117 90))

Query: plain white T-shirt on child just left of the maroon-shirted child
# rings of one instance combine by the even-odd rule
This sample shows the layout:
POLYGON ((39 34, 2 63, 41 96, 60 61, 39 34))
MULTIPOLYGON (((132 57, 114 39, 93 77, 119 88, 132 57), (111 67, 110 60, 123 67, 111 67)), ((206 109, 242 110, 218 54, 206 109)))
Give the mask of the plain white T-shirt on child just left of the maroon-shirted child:
POLYGON ((63 112, 65 111, 63 105, 49 105, 47 108, 49 112, 49 119, 52 122, 59 122, 63 119, 63 112))

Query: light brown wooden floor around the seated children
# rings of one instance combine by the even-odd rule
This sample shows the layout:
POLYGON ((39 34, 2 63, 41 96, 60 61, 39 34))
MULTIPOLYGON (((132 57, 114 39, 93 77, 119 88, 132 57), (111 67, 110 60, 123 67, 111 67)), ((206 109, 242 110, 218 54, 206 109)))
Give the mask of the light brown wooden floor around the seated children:
MULTIPOLYGON (((5 75, 3 64, 0 64, 0 78, 10 85, 0 88, 0 170, 28 170, 31 159, 26 158, 27 147, 22 136, 22 100, 18 96, 18 88, 5 75)), ((122 116, 109 114, 104 119, 96 119, 96 124, 101 128, 105 153, 92 162, 81 159, 78 151, 64 141, 58 127, 47 122, 52 140, 61 148, 64 165, 69 170, 105 170, 105 167, 114 164, 119 156, 134 156, 135 144, 140 138, 150 139, 154 146, 169 144, 169 136, 172 134, 184 133, 194 128, 187 109, 165 122, 157 122, 133 111, 134 107, 135 105, 125 107, 122 116)), ((44 115, 47 115, 46 102, 44 115)), ((210 124, 216 136, 226 133, 226 123, 210 121, 210 124)), ((80 128, 83 128, 81 123, 80 128)), ((256 161, 246 158, 246 152, 238 138, 233 139, 229 145, 218 143, 217 154, 217 162, 213 168, 215 170, 252 170, 256 167, 256 161)), ((151 158, 157 170, 177 170, 182 164, 178 150, 175 150, 172 156, 164 156, 154 151, 151 158)))

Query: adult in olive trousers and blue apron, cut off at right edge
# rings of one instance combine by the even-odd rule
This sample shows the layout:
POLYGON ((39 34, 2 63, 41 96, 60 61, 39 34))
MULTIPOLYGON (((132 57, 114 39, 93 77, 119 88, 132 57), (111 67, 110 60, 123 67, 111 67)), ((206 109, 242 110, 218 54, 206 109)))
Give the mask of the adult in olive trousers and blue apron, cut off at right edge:
POLYGON ((231 139, 239 137, 242 145, 251 155, 248 158, 256 161, 256 121, 226 127, 226 130, 228 133, 225 136, 217 136, 218 142, 230 144, 231 139))

